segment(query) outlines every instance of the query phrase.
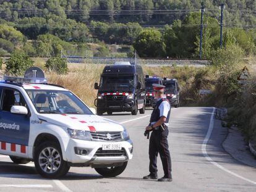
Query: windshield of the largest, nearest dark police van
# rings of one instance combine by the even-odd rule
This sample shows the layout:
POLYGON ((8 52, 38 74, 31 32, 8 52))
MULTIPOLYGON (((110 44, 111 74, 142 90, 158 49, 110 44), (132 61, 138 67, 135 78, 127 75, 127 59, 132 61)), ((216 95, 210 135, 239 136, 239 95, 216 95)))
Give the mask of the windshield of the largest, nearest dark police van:
POLYGON ((101 91, 132 91, 134 88, 134 77, 101 77, 101 91))

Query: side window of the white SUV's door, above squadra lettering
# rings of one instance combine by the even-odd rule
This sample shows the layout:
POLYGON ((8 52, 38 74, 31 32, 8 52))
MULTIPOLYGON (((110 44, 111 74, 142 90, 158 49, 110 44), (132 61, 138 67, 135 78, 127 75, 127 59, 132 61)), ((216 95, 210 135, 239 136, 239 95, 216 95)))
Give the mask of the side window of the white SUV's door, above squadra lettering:
POLYGON ((2 93, 2 111, 11 112, 12 106, 27 107, 27 104, 19 91, 6 89, 2 93))

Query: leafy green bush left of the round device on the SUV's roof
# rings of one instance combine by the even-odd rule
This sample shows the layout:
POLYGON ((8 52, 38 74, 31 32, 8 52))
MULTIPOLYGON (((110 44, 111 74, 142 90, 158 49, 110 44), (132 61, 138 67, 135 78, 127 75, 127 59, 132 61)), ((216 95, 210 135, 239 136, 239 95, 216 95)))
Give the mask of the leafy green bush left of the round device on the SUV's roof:
POLYGON ((25 70, 32 67, 34 61, 24 53, 13 53, 10 59, 6 61, 6 74, 7 75, 23 75, 25 70))

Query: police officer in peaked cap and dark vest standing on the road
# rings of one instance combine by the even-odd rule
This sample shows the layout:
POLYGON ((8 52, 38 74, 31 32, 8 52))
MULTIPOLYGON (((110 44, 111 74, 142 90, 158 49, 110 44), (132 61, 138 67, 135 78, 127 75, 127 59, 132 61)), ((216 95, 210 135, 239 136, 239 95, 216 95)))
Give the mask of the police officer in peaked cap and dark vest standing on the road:
POLYGON ((172 182, 173 178, 171 176, 171 156, 168 149, 168 122, 171 114, 171 106, 168 99, 164 97, 163 85, 153 84, 153 89, 155 91, 155 98, 158 99, 156 102, 155 109, 153 110, 150 117, 150 125, 146 127, 145 133, 152 131, 150 136, 149 144, 149 157, 150 174, 143 177, 147 180, 158 179, 156 160, 158 152, 160 153, 161 161, 163 164, 164 177, 158 179, 158 182, 172 182))

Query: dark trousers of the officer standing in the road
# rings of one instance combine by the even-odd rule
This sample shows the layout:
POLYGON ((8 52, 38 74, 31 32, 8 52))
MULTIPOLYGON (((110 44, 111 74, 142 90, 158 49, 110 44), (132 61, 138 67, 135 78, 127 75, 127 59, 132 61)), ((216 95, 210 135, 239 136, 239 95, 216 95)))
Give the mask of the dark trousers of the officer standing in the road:
POLYGON ((172 178, 171 176, 171 155, 168 147, 168 128, 165 130, 154 130, 151 132, 150 136, 150 145, 149 145, 149 157, 150 157, 150 175, 157 176, 157 156, 158 152, 161 157, 161 161, 163 164, 164 177, 172 178))

